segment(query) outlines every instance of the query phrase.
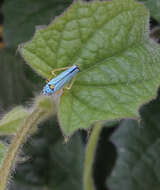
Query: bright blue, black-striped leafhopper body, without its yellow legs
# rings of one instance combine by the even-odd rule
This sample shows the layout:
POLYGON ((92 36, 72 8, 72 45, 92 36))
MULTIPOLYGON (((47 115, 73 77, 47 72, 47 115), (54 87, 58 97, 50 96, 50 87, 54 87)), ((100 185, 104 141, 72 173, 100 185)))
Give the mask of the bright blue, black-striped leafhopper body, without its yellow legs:
POLYGON ((77 65, 73 65, 66 71, 59 74, 57 77, 50 80, 43 88, 43 95, 52 95, 57 90, 60 90, 75 76, 78 71, 79 67, 77 65))

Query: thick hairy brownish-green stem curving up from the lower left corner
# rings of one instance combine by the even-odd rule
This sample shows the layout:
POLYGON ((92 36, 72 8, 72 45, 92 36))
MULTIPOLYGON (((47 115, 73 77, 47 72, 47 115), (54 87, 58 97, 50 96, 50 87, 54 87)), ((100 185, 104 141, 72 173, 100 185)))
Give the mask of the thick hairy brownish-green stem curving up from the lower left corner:
POLYGON ((30 130, 41 121, 41 118, 44 117, 45 114, 46 111, 43 109, 35 108, 35 110, 26 118, 24 124, 17 132, 0 169, 0 190, 6 189, 8 178, 12 168, 14 167, 17 154, 24 144, 27 136, 30 135, 30 130))

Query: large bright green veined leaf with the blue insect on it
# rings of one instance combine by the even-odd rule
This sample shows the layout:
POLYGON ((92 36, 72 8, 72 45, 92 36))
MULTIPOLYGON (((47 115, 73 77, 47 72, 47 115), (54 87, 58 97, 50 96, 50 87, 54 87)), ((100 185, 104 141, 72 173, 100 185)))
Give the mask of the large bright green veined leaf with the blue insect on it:
POLYGON ((137 117, 139 106, 156 96, 160 47, 149 39, 148 23, 148 11, 133 0, 79 0, 21 46, 25 60, 45 78, 55 68, 80 67, 60 100, 66 135, 97 120, 137 117))

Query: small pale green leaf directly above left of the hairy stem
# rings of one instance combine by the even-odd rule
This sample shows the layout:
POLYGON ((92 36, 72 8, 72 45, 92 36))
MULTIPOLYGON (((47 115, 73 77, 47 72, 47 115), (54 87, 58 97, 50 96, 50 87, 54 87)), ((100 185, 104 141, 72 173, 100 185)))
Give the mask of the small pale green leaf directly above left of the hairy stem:
POLYGON ((0 134, 16 133, 29 112, 22 106, 17 106, 8 112, 0 121, 0 134))

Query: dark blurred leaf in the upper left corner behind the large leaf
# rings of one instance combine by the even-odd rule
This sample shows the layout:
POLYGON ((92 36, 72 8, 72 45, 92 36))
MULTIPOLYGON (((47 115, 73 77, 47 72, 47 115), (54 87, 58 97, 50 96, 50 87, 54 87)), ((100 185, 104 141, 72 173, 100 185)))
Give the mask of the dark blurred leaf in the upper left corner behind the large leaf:
POLYGON ((35 25, 49 23, 71 2, 72 0, 5 0, 3 6, 5 44, 9 47, 17 46, 29 40, 35 25))

